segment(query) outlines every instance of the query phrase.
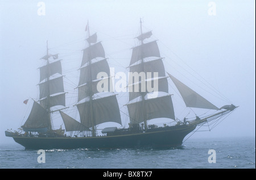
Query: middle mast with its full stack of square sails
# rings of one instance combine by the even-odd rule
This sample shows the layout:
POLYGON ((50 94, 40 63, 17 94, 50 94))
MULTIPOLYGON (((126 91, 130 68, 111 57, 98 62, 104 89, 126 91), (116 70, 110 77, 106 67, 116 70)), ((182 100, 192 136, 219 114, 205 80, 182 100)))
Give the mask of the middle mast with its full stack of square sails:
POLYGON ((105 122, 122 123, 117 98, 115 94, 110 93, 109 89, 109 85, 112 83, 110 83, 110 69, 104 48, 101 41, 97 42, 96 33, 90 35, 89 24, 87 24, 85 31, 88 31, 89 35, 86 39, 88 47, 83 50, 76 106, 81 124, 92 128, 92 136, 96 136, 96 125, 105 122), (98 73, 105 75, 98 78, 98 73), (101 84, 104 86, 103 92, 98 91, 97 85, 101 82, 104 82, 101 84), (105 88, 105 85, 108 88, 105 88), (98 93, 103 93, 102 97, 98 93), (108 95, 109 93, 111 95, 108 95))

